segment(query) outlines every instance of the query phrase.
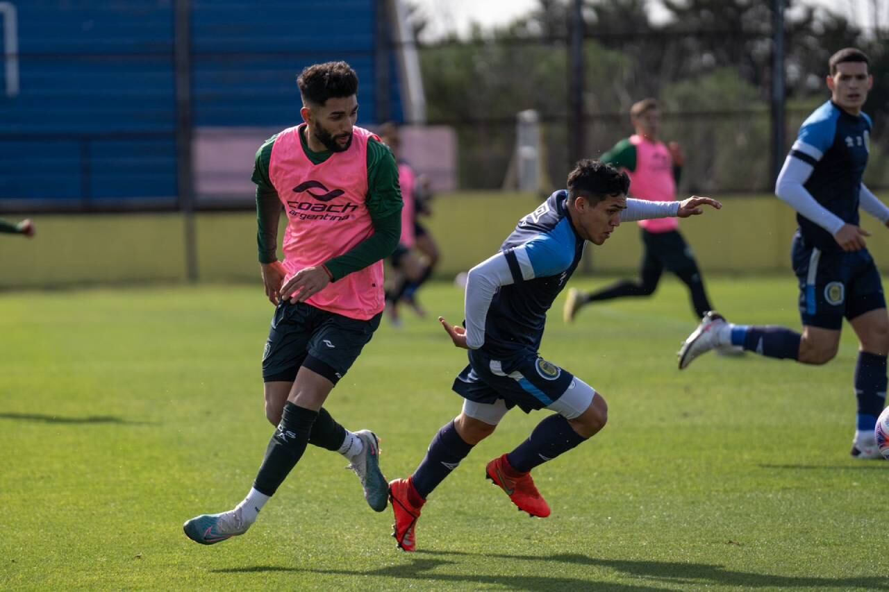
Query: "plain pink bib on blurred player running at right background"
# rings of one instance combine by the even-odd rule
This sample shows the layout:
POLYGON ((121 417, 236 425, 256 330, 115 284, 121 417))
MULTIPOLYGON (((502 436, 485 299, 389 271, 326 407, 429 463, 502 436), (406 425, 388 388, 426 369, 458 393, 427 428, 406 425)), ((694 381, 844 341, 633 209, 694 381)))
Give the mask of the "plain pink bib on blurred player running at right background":
MULTIPOLYGON (((629 137, 636 147, 636 171, 629 172, 629 195, 650 202, 676 200, 676 180, 673 178, 673 156, 663 142, 645 140, 638 134, 629 137)), ((676 218, 639 220, 648 232, 669 232, 679 228, 676 218)))

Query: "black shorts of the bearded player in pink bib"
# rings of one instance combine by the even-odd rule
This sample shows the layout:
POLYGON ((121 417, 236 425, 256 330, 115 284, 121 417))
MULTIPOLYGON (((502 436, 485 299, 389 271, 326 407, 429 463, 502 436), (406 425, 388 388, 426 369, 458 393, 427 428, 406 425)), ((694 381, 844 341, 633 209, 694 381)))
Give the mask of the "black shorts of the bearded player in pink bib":
POLYGON ((272 316, 262 352, 262 380, 292 382, 300 366, 306 366, 336 384, 373 337, 381 316, 359 321, 284 300, 272 316))

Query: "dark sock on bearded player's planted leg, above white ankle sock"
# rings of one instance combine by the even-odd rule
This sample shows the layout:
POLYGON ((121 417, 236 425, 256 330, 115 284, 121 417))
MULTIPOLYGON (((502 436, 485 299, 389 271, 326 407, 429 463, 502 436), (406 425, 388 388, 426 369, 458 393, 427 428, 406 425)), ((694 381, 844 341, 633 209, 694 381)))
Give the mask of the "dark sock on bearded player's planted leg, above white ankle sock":
POLYGON ((288 401, 284 404, 284 415, 268 442, 266 458, 253 482, 253 489, 265 495, 274 495, 278 486, 299 462, 306 452, 308 436, 318 412, 299 407, 288 401))

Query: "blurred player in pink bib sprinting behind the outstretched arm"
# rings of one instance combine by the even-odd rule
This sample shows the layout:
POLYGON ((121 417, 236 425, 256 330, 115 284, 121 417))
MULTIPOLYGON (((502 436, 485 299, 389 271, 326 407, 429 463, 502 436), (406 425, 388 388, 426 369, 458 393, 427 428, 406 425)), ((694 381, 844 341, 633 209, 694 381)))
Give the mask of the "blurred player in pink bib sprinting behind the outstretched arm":
MULTIPOLYGON (((644 99, 629 110, 630 122, 636 133, 619 141, 599 159, 613 164, 629 175, 630 194, 653 202, 676 199, 676 188, 685 157, 677 142, 669 146, 660 140, 661 111, 658 101, 644 99)), ((664 269, 673 272, 688 286, 695 318, 700 319, 710 310, 701 270, 691 248, 679 233, 676 218, 639 220, 644 254, 638 281, 621 280, 597 292, 568 291, 564 318, 571 323, 577 312, 589 302, 628 296, 651 296, 658 287, 664 269)))

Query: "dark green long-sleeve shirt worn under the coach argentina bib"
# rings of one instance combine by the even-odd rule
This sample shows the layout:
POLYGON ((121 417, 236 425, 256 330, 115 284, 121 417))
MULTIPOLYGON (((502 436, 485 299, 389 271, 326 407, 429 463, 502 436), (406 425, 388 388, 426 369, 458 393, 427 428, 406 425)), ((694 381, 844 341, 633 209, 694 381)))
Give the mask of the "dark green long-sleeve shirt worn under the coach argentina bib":
MULTIPOLYGON (((257 151, 252 175, 252 181, 256 183, 256 242, 260 263, 277 260, 277 229, 282 204, 268 178, 272 147, 277 137, 278 134, 275 134, 266 140, 257 151)), ((313 164, 321 164, 333 154, 330 151, 310 150, 303 133, 300 133, 300 143, 313 164)), ((373 235, 356 244, 350 251, 324 262, 334 282, 388 257, 401 237, 403 203, 401 188, 398 186, 398 165, 388 147, 374 139, 367 142, 366 204, 373 224, 373 235)))

